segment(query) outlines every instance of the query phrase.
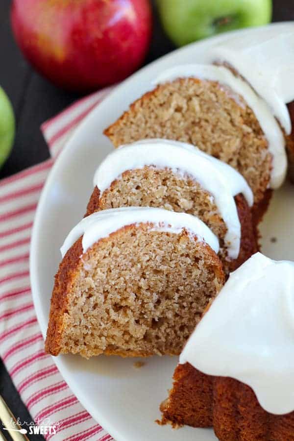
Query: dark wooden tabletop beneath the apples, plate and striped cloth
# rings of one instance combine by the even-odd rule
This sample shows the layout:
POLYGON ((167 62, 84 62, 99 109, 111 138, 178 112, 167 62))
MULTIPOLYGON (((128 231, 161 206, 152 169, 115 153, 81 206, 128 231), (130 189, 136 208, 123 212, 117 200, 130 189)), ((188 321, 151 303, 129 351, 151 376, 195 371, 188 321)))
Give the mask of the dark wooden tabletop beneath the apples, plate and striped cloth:
MULTIPOLYGON (((0 0, 0 85, 12 101, 17 130, 12 153, 0 170, 0 178, 48 158, 48 148, 40 132, 41 123, 80 98, 80 95, 57 89, 26 63, 11 33, 10 4, 10 0, 0 0)), ((273 21, 285 20, 294 20, 294 0, 273 0, 273 21)), ((153 39, 146 63, 172 49, 174 46, 164 35, 154 10, 153 39)), ((14 415, 21 420, 31 419, 1 361, 0 394, 14 415)), ((34 436, 34 440, 43 440, 43 437, 34 436)))

